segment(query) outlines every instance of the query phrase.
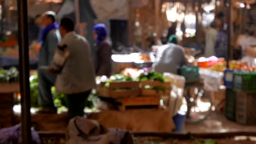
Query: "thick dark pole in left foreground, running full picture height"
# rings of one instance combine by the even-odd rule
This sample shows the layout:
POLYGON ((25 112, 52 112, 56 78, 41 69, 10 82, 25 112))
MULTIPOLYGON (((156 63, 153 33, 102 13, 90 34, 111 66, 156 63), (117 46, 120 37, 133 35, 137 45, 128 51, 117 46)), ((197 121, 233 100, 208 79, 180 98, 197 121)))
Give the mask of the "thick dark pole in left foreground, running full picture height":
POLYGON ((27 0, 17 0, 19 22, 19 73, 21 92, 21 134, 22 143, 31 143, 30 116, 30 83, 29 83, 29 55, 28 55, 28 16, 27 0))

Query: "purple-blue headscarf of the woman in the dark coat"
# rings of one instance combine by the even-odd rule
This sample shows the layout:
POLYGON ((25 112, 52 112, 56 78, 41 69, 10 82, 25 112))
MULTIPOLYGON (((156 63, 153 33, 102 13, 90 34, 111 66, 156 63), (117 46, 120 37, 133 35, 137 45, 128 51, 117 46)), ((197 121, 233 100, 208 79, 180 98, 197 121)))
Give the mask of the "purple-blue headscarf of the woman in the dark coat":
POLYGON ((102 23, 94 26, 94 32, 97 34, 97 44, 100 44, 108 35, 107 28, 102 23))

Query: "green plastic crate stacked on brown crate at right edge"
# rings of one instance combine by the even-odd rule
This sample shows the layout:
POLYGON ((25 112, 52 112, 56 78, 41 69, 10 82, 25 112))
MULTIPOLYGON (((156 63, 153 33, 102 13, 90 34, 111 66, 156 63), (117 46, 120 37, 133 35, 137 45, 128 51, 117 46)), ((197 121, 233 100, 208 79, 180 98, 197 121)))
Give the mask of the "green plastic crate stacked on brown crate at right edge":
POLYGON ((256 73, 234 71, 232 89, 237 92, 256 92, 256 73))

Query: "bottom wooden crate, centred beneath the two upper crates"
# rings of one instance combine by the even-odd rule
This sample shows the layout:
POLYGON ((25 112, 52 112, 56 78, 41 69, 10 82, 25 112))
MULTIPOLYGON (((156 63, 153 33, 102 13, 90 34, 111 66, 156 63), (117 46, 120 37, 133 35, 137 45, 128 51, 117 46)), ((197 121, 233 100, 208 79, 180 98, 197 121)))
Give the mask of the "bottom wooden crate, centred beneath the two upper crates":
POLYGON ((121 111, 125 111, 127 106, 157 106, 160 108, 160 97, 135 97, 118 100, 122 105, 121 111))

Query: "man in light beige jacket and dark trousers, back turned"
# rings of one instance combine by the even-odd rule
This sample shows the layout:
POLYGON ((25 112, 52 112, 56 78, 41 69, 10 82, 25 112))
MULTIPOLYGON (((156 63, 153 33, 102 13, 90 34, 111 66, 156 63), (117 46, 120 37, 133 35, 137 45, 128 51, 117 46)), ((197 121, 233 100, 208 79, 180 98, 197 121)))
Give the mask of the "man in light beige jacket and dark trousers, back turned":
POLYGON ((50 71, 57 73, 55 87, 68 99, 68 118, 84 115, 84 107, 96 86, 88 41, 74 32, 74 22, 63 18, 62 40, 55 52, 50 71))

